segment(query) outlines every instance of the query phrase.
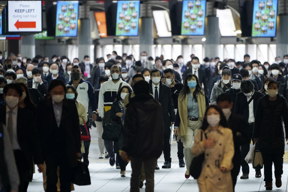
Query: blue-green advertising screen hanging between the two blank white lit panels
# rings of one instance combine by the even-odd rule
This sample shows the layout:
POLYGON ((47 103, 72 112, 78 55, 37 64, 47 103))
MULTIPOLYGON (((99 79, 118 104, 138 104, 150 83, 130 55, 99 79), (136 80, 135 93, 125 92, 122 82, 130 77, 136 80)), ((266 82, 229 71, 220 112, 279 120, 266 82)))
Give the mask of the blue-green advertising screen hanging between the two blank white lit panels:
POLYGON ((204 35, 206 1, 183 1, 181 35, 204 35))

